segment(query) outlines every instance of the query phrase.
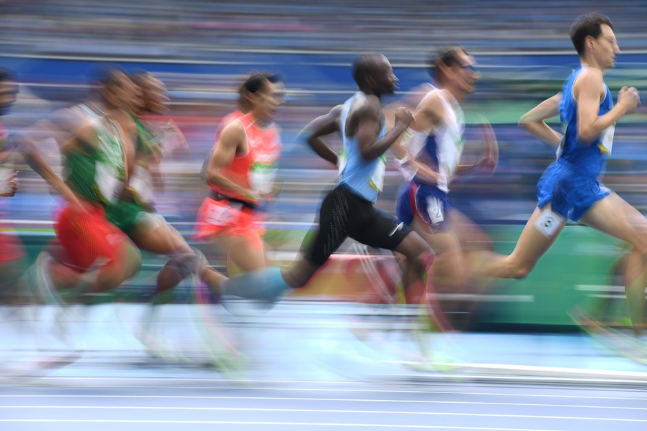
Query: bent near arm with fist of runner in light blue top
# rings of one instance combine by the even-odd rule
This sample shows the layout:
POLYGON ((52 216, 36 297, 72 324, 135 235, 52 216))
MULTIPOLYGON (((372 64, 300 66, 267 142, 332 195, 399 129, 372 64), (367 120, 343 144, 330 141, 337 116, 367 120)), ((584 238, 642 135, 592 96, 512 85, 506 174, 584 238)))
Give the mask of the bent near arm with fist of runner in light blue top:
POLYGON ((359 151, 365 160, 373 160, 383 155, 413 121, 410 111, 400 107, 395 111, 395 124, 392 129, 378 137, 383 121, 381 117, 380 100, 372 95, 366 96, 366 99, 358 107, 353 107, 348 115, 346 135, 357 138, 359 151))

